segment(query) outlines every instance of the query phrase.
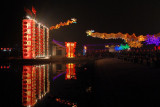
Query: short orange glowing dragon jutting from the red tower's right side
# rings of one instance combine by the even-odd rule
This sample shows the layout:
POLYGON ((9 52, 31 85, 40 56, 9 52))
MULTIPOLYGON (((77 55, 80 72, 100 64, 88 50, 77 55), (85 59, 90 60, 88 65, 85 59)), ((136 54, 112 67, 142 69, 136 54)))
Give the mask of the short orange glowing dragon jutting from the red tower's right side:
POLYGON ((59 24, 57 24, 55 26, 51 26, 50 30, 59 29, 61 26, 68 26, 68 25, 70 25, 72 23, 77 23, 76 21, 77 21, 77 19, 72 18, 71 20, 68 20, 67 22, 64 22, 64 23, 60 22, 59 24))

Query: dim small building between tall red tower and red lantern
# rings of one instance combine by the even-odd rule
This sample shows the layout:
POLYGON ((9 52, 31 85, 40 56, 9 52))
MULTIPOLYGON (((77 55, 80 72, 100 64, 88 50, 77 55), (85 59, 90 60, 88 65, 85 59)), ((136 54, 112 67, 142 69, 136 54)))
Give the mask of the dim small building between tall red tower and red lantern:
POLYGON ((56 40, 52 41, 52 56, 65 57, 66 48, 56 40))

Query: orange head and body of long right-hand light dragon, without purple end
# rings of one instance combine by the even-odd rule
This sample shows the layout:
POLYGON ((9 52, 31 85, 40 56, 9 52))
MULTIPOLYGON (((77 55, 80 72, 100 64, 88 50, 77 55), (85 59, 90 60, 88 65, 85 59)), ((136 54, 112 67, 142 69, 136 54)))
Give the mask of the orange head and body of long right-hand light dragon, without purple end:
POLYGON ((94 32, 94 30, 88 30, 86 33, 88 36, 97 37, 101 39, 121 38, 124 39, 125 42, 127 42, 130 47, 134 48, 142 47, 143 44, 141 42, 146 40, 146 36, 140 35, 137 37, 134 33, 132 35, 129 35, 128 33, 122 34, 121 32, 107 34, 107 33, 94 32))

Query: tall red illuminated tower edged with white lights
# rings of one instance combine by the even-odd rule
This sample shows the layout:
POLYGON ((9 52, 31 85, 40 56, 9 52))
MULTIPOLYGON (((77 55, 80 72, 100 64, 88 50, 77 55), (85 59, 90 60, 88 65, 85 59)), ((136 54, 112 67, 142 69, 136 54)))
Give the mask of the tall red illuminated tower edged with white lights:
POLYGON ((23 59, 49 58, 49 28, 28 17, 22 30, 23 59))

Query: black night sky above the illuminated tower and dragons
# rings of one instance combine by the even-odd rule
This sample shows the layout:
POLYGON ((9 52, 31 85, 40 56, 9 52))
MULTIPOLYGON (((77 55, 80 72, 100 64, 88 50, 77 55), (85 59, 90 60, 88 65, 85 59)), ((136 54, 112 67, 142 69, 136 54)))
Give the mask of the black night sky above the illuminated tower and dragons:
POLYGON ((4 0, 1 3, 1 47, 21 45, 24 7, 31 9, 32 5, 37 10, 37 20, 48 27, 77 18, 77 24, 50 31, 50 36, 61 42, 76 41, 78 46, 106 41, 87 37, 85 32, 89 29, 136 35, 160 32, 159 0, 4 0))

